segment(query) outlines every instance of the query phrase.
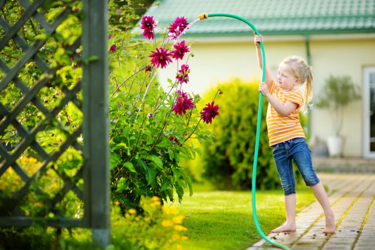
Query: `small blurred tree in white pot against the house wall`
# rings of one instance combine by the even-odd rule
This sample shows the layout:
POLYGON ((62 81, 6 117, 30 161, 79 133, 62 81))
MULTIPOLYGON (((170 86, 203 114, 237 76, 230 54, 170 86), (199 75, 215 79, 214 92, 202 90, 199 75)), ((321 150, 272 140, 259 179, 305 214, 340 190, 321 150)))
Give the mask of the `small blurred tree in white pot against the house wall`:
POLYGON ((332 117, 335 134, 327 138, 328 153, 331 157, 341 157, 344 137, 341 134, 344 108, 352 101, 360 99, 358 87, 349 75, 330 75, 315 105, 328 109, 332 117))

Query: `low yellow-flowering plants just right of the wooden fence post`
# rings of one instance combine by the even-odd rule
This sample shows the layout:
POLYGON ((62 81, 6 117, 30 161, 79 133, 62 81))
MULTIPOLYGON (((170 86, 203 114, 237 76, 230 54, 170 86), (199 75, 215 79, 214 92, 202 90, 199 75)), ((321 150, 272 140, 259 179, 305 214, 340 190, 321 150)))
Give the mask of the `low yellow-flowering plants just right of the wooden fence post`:
POLYGON ((184 216, 174 206, 164 206, 159 197, 142 198, 142 215, 129 209, 122 215, 117 205, 112 209, 112 243, 115 249, 181 249, 187 240, 184 216))

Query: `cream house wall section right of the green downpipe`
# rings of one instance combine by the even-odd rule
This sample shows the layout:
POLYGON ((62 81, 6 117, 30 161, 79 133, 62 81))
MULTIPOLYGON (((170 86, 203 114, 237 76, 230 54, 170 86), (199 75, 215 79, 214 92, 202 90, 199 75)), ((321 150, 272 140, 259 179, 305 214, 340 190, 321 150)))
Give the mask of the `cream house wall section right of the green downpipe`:
MULTIPOLYGON (((311 54, 315 71, 315 96, 324 91, 321 87, 329 74, 350 75, 362 93, 362 70, 366 66, 375 65, 375 39, 312 41, 311 54)), ((362 107, 362 100, 359 100, 344 109, 342 135, 345 137, 345 156, 363 154, 362 107)), ((311 116, 312 134, 327 138, 333 134, 332 127, 327 110, 315 109, 311 116), (328 126, 325 126, 326 123, 328 126)))

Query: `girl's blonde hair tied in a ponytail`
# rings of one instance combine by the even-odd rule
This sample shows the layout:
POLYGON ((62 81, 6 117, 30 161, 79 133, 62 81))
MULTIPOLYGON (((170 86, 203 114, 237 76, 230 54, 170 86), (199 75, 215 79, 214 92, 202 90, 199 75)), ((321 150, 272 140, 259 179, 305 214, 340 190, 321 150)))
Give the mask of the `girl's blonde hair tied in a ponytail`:
POLYGON ((305 86, 304 101, 301 108, 305 108, 304 113, 307 113, 313 108, 313 73, 311 66, 306 62, 305 59, 298 56, 286 57, 281 63, 289 66, 290 73, 297 79, 300 80, 300 85, 305 86))

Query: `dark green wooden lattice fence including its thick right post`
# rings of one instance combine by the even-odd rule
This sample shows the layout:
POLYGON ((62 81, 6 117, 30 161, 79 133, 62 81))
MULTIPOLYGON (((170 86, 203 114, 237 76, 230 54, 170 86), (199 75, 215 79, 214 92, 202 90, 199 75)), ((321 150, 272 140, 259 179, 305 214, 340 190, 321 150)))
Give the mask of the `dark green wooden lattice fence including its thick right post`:
POLYGON ((107 3, 54 2, 0 1, 0 226, 90 227, 106 244, 107 3))

